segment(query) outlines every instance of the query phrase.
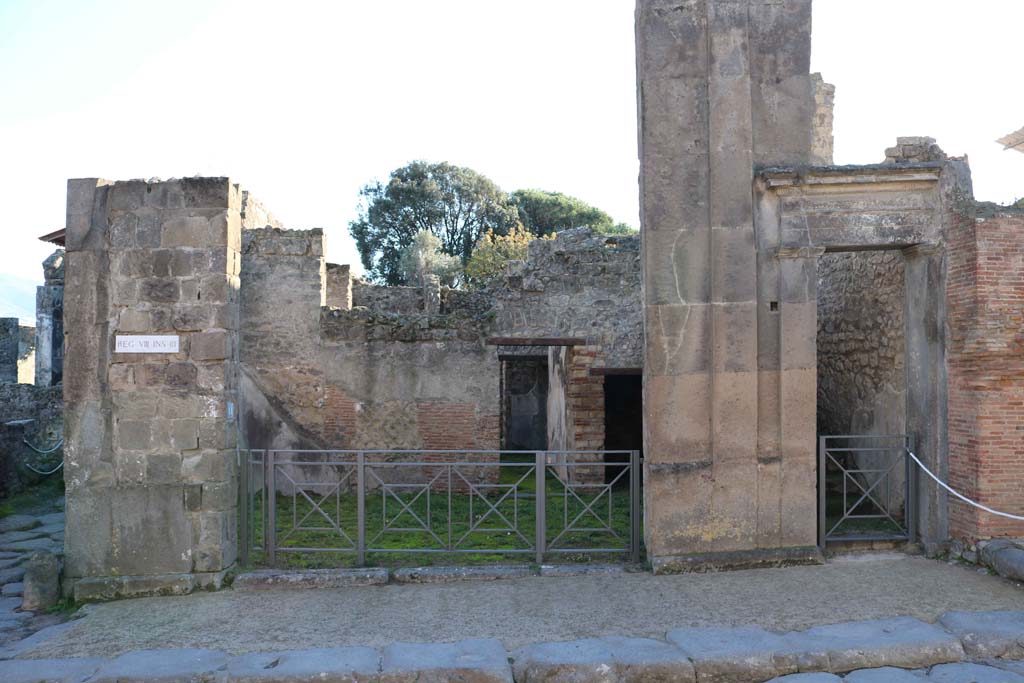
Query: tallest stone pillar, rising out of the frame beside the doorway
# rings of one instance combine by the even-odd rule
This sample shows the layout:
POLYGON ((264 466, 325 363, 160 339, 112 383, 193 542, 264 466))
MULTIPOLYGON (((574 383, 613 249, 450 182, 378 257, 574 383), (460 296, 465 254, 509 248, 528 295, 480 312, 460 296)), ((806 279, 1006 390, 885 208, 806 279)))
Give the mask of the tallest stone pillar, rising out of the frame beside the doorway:
POLYGON ((765 247, 777 234, 756 234, 753 202, 755 166, 811 159, 810 9, 810 0, 637 4, 645 532, 655 570, 816 557, 813 290, 809 304, 781 299, 781 328, 772 325, 782 332, 759 335, 813 258, 772 263, 765 247), (796 343, 808 311, 805 367, 806 348, 779 344, 796 343), (792 469, 790 453, 799 454, 792 469))

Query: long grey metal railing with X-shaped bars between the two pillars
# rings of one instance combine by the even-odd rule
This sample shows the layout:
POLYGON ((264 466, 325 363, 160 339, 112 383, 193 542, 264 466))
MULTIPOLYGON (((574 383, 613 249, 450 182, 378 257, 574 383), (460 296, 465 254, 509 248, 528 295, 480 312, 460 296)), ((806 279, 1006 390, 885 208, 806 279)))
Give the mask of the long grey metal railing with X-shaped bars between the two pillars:
POLYGON ((240 555, 641 555, 633 451, 241 450, 240 555), (608 458, 610 457, 610 458, 608 458))

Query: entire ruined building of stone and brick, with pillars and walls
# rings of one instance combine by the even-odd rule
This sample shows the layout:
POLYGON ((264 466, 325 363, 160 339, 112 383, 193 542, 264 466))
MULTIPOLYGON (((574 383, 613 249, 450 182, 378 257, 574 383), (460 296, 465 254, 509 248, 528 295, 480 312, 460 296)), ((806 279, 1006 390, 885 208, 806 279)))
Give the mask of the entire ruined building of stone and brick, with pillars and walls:
MULTIPOLYGON (((849 541, 837 486, 929 553, 1024 537, 907 459, 1024 514, 1024 210, 975 202, 928 137, 833 165, 810 0, 639 0, 636 38, 640 236, 535 241, 482 290, 366 282, 229 178, 69 180, 31 344, 34 390, 62 391, 65 592, 223 585, 251 487, 282 485, 253 450, 310 490, 333 480, 302 452, 471 452, 461 480, 380 480, 470 496, 540 454, 566 497, 642 454, 656 572, 818 562, 849 541)), ((27 333, 0 332, 14 405, 27 333)))

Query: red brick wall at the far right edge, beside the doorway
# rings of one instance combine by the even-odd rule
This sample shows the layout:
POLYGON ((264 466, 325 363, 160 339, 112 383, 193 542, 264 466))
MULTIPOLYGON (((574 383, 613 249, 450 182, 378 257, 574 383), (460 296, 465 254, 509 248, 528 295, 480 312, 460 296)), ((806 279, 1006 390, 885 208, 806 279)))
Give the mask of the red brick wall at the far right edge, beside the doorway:
MULTIPOLYGON (((1024 215, 965 221, 948 237, 949 484, 1024 515, 1024 215)), ((1024 522, 952 497, 949 527, 972 541, 1024 537, 1024 522)))

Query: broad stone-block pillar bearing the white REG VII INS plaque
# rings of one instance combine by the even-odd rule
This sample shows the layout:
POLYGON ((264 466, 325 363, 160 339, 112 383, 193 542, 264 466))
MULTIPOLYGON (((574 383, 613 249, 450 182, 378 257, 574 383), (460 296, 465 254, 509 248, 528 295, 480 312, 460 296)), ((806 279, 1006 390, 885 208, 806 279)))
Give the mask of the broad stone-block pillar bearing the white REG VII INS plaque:
POLYGON ((218 586, 234 563, 240 206, 227 178, 68 183, 65 587, 76 599, 218 586), (117 344, 142 335, 178 350, 117 344))

